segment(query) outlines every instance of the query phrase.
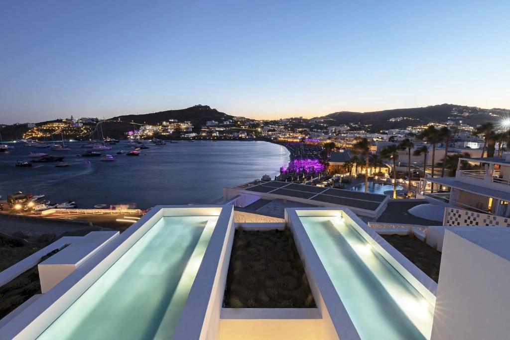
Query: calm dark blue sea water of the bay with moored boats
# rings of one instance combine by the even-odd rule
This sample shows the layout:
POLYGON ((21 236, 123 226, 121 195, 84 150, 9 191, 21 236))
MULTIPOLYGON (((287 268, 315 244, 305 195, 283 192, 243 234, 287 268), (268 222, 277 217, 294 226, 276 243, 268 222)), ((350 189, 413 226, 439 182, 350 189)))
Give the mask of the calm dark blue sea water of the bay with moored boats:
POLYGON ((195 141, 148 145, 139 156, 116 154, 133 148, 121 141, 109 151, 114 162, 81 157, 83 143, 68 143, 72 151, 20 146, 0 153, 0 195, 12 192, 45 194, 53 202, 75 201, 79 207, 94 204, 135 203, 147 208, 157 204, 219 203, 223 187, 274 177, 289 163, 289 151, 280 145, 254 141, 195 141), (36 163, 20 168, 19 160, 31 160, 31 152, 65 156, 68 168, 58 163, 36 163), (89 162, 86 162, 89 161, 89 162))

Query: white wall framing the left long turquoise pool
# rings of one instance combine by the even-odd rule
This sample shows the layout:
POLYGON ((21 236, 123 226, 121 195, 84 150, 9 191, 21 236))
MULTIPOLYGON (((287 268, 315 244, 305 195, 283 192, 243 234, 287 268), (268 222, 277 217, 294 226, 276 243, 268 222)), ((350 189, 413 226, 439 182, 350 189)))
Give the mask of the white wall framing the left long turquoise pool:
MULTIPOLYGON (((227 240, 227 238, 225 238, 225 232, 227 230, 233 229, 233 206, 159 205, 152 208, 152 210, 140 218, 140 220, 122 232, 120 236, 116 237, 108 245, 100 249, 88 261, 86 261, 68 277, 53 287, 52 290, 42 295, 30 306, 30 308, 20 312, 19 315, 13 318, 7 325, 2 328, 0 339, 25 340, 37 338, 101 275, 103 275, 115 263, 115 261, 117 261, 127 251, 127 249, 131 248, 131 246, 135 244, 148 229, 150 229, 164 216, 219 216, 215 230, 213 231, 213 235, 211 236, 211 240, 206 250, 206 254, 203 258, 202 264, 199 267, 195 279, 195 282, 200 281, 202 284, 207 284, 208 286, 210 283, 210 286, 212 287, 214 283, 207 282, 207 279, 211 279, 212 274, 209 270, 203 268, 211 266, 211 262, 218 262, 219 258, 215 257, 215 255, 224 254, 225 252, 225 244, 223 243, 223 240, 227 240), (217 228, 218 226, 220 226, 220 228, 217 228)), ((217 266, 214 266, 214 270, 216 270, 216 268, 217 266)), ((208 269, 211 269, 211 267, 208 269)), ((214 275, 214 280, 216 281, 216 274, 214 275)), ((204 306, 204 301, 200 301, 203 300, 203 297, 194 298, 191 296, 192 293, 209 296, 211 291, 200 292, 195 287, 195 284, 193 284, 188 300, 191 298, 192 301, 190 304, 196 303, 196 301, 200 302, 196 306, 196 308, 199 309, 196 310, 203 313, 205 318, 195 318, 195 309, 193 309, 194 316, 190 318, 189 310, 190 308, 195 307, 189 307, 187 302, 180 319, 180 323, 185 322, 187 325, 189 325, 189 327, 192 327, 191 329, 197 328, 198 331, 201 332, 202 325, 209 324, 207 323, 208 320, 206 320, 206 317, 208 317, 208 313, 210 313, 208 312, 210 300, 206 299, 205 302, 207 303, 207 306, 204 306), (185 313, 188 317, 184 317, 185 313)), ((213 316, 209 316, 210 319, 212 317, 213 316)), ((177 325, 176 331, 179 329, 180 327, 177 325)), ((174 336, 174 338, 176 337, 174 336)))

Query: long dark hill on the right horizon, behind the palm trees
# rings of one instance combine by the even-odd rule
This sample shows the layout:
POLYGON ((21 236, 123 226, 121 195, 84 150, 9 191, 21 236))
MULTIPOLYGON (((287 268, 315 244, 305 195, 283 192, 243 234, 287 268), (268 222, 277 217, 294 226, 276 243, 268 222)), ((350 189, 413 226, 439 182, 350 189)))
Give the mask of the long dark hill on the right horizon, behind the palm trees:
POLYGON ((463 123, 470 125, 481 124, 486 121, 496 121, 498 119, 497 117, 490 116, 486 110, 454 104, 441 104, 424 108, 393 109, 373 112, 342 111, 317 118, 332 119, 337 124, 372 124, 371 129, 377 131, 379 129, 402 128, 410 125, 417 125, 417 123, 426 124, 429 122, 444 122, 448 117, 453 116, 453 108, 457 108, 457 111, 461 113, 464 110, 470 111, 471 115, 469 117, 461 117, 463 123), (417 120, 402 120, 398 122, 389 121, 390 118, 396 117, 409 117, 417 120))

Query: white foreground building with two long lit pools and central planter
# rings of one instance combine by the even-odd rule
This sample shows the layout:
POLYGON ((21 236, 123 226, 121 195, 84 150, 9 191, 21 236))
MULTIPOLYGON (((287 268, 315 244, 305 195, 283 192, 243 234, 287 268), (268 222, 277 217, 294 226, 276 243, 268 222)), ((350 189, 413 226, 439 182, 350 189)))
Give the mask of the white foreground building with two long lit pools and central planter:
POLYGON ((4 284, 61 249, 0 339, 505 338, 510 229, 444 239, 436 283, 345 207, 245 223, 232 204, 156 206, 121 234, 63 238, 0 272, 4 284))

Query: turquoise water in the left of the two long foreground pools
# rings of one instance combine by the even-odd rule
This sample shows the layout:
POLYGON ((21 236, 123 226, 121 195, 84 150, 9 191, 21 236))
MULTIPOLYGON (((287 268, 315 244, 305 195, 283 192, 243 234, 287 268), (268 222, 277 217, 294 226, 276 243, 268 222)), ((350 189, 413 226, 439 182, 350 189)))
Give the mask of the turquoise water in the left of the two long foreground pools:
POLYGON ((163 217, 38 339, 170 339, 216 221, 163 217))

